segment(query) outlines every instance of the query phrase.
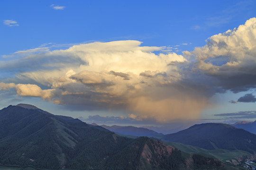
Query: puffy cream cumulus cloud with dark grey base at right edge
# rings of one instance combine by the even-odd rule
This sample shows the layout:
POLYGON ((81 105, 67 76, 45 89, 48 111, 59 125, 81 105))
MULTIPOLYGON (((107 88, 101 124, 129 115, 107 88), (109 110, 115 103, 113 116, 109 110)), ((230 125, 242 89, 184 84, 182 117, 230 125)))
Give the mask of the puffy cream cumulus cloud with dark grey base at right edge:
POLYGON ((183 55, 196 60, 193 70, 212 81, 213 86, 234 93, 256 87, 256 18, 245 25, 211 36, 207 44, 183 55))

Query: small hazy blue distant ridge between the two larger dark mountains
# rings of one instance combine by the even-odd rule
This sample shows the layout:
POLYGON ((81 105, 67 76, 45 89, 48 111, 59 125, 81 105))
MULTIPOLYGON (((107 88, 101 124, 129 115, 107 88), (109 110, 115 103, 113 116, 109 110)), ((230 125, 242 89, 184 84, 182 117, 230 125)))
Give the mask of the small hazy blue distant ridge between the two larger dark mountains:
POLYGON ((101 127, 104 127, 112 132, 123 134, 123 135, 148 136, 148 137, 156 137, 156 136, 164 135, 143 127, 116 126, 116 125, 113 125, 113 126, 101 125, 101 127))

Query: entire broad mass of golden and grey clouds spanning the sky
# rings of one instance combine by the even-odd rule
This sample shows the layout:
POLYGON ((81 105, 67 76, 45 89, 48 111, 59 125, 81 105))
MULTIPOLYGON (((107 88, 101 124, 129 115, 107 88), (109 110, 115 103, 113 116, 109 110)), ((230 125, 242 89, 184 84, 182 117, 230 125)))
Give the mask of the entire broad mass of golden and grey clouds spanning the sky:
POLYGON ((15 75, 0 90, 87 110, 127 110, 137 120, 197 119, 214 93, 255 88, 255 56, 251 18, 183 55, 131 40, 18 51, 11 55, 18 59, 0 62, 0 71, 15 75))

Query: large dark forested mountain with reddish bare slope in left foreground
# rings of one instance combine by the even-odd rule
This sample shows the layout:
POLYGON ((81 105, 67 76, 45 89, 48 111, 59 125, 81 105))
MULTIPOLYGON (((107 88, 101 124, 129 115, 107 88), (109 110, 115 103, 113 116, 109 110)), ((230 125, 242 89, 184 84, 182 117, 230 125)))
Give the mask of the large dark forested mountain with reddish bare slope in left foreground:
POLYGON ((44 170, 192 170, 226 166, 148 137, 118 136, 103 127, 24 104, 0 110, 0 165, 44 170))

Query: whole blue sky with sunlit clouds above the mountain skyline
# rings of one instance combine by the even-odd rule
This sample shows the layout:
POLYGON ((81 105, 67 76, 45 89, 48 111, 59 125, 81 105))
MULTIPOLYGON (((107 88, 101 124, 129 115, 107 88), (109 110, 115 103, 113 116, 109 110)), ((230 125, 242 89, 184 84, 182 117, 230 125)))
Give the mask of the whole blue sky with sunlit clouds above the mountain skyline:
POLYGON ((0 108, 88 123, 256 119, 255 0, 3 0, 0 108))

